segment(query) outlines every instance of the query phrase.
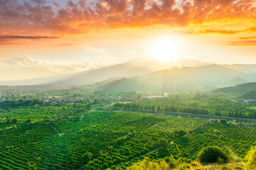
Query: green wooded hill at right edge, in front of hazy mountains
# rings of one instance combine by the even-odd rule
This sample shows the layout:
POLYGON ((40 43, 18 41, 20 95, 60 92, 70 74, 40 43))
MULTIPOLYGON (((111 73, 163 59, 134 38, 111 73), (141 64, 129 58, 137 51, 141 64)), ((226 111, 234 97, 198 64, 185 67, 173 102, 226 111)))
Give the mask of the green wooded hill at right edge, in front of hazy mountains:
POLYGON ((213 91, 214 93, 222 93, 222 94, 245 94, 245 92, 250 91, 256 88, 256 82, 247 83, 247 84, 239 84, 237 86, 230 86, 217 89, 213 91))

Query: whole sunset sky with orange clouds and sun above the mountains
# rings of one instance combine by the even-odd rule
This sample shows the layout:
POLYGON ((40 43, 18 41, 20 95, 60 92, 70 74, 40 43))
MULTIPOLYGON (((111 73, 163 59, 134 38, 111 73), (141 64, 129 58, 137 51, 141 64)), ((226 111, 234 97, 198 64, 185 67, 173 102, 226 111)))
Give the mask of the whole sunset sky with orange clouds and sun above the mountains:
POLYGON ((0 81, 129 60, 255 64, 256 0, 0 0, 0 81))

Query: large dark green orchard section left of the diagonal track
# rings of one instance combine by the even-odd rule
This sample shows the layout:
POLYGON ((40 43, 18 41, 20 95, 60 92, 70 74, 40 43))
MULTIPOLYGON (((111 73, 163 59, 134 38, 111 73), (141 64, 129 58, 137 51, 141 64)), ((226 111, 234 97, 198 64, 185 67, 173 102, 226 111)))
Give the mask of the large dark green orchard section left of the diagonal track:
MULTIPOLYGON (((159 148, 161 138, 174 140, 176 136, 171 130, 154 127, 166 120, 149 114, 92 111, 83 117, 55 120, 53 125, 16 123, 16 128, 6 129, 14 124, 0 123, 3 134, 0 157, 4 162, 0 168, 79 169, 83 165, 85 169, 125 168, 130 161, 159 148), (64 135, 57 135, 53 126, 64 135), (92 154, 92 158, 86 159, 86 153, 92 154)), ((180 128, 186 126, 185 119, 175 121, 178 120, 180 128)), ((197 126, 192 124, 189 128, 197 126)))

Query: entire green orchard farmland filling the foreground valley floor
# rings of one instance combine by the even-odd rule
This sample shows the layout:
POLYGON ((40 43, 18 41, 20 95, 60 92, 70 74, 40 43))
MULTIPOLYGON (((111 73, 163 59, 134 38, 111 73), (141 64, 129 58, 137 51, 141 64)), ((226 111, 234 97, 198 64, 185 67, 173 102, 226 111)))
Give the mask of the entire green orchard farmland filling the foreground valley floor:
POLYGON ((115 111, 79 112, 41 123, 0 123, 0 129, 0 169, 126 169, 145 156, 158 160, 171 155, 191 162, 207 146, 243 159, 256 141, 256 129, 247 126, 115 111), (182 130, 186 133, 178 134, 182 130), (168 147, 161 147, 163 138, 168 147))

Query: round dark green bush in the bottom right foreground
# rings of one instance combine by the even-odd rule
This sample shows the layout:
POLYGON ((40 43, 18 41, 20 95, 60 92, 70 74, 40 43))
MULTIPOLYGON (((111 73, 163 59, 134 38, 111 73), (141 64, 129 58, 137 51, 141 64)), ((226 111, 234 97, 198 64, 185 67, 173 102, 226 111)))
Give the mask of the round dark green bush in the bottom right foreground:
POLYGON ((220 147, 205 147, 198 153, 198 159, 201 163, 227 163, 232 157, 220 147))

